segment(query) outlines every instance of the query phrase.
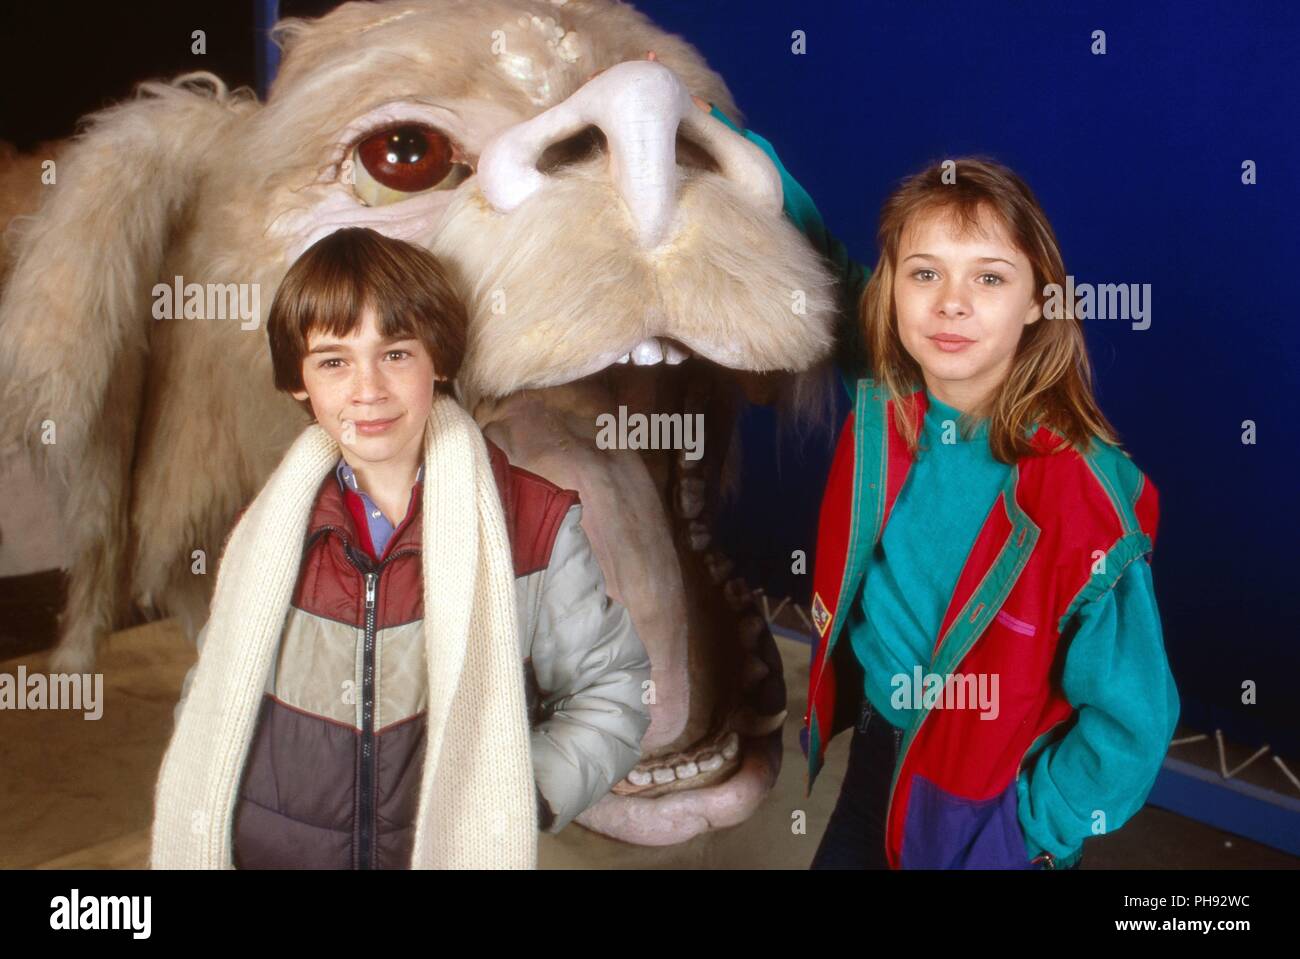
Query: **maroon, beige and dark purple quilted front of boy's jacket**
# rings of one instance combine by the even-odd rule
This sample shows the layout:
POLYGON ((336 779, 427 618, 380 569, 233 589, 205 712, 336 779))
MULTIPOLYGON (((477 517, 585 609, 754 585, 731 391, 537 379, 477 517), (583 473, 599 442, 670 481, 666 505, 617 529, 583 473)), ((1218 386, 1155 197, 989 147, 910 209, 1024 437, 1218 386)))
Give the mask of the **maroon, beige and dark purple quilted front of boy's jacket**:
MULTIPOLYGON (((488 454, 523 596, 577 494, 510 465, 490 441, 488 454)), ((378 561, 356 529, 330 470, 244 764, 235 868, 410 868, 428 697, 420 483, 378 561)))

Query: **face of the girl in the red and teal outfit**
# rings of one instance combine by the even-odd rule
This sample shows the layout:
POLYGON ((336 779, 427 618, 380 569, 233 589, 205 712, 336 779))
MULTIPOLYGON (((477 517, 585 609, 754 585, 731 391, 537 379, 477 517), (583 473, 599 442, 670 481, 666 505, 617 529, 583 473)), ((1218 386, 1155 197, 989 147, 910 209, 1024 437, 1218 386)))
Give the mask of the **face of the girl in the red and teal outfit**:
POLYGON ((926 386, 961 411, 1006 378, 1026 326, 1041 316, 1034 268, 1001 221, 982 207, 979 229, 957 235, 945 209, 904 229, 894 269, 898 337, 926 386))

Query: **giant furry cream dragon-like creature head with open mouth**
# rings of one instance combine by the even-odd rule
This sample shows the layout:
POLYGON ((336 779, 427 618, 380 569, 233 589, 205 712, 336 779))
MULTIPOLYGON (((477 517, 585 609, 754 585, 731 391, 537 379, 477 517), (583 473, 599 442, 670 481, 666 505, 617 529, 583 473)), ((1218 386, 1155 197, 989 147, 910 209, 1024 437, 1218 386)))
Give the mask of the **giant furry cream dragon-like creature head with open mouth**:
POLYGON ((737 382, 816 368, 835 303, 770 161, 690 101, 734 117, 725 84, 612 0, 350 3, 276 35, 265 103, 211 74, 142 84, 10 233, 0 448, 60 499, 53 668, 86 668, 133 616, 198 633, 196 551, 211 572, 304 426, 261 312, 299 252, 364 225, 448 265, 463 402, 514 463, 578 490, 650 654, 645 758, 580 821, 638 843, 742 821, 777 773, 785 693, 708 520, 737 382), (679 417, 651 430, 699 415, 703 455, 606 448, 620 408, 679 417))

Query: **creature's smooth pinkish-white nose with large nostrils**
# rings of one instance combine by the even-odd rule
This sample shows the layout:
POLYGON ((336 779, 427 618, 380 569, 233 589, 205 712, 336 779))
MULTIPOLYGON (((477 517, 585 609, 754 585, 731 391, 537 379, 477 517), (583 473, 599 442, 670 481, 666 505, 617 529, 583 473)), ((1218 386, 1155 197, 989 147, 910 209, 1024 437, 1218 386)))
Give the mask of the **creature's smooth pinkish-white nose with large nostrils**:
POLYGON ((610 151, 615 187, 642 247, 667 239, 677 201, 677 127, 684 126, 755 205, 779 213, 781 179, 767 156, 690 101, 677 74, 654 60, 604 70, 564 103, 498 134, 478 159, 478 183, 494 209, 514 211, 546 187, 542 152, 589 126, 610 151))

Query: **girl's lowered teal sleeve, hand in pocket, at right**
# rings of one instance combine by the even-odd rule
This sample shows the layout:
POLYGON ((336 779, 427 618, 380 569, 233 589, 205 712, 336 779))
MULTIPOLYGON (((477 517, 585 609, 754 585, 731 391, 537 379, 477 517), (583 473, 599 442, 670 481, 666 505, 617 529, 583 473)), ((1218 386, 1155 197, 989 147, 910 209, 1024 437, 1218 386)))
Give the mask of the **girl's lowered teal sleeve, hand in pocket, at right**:
POLYGON ((1061 678, 1075 724, 1017 784, 1030 858, 1050 852, 1060 865, 1078 862, 1087 837, 1114 832, 1147 802, 1179 711, 1144 559, 1076 616, 1061 678))

